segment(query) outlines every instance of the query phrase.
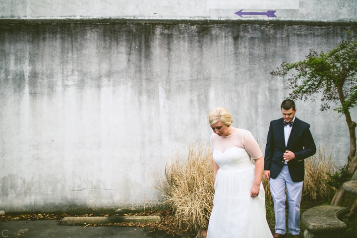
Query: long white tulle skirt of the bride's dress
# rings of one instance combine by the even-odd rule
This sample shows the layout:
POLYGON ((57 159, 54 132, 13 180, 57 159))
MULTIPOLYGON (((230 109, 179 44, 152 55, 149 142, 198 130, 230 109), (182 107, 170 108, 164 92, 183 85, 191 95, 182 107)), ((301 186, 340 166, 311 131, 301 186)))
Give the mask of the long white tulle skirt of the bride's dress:
POLYGON ((272 238, 265 213, 263 184, 257 197, 250 197, 254 167, 219 169, 207 238, 272 238))

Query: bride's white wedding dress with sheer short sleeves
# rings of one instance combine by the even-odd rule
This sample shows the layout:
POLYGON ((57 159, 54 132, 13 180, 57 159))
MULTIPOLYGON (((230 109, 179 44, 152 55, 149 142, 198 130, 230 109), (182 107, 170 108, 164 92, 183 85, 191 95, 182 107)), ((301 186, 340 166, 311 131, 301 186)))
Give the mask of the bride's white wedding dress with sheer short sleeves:
POLYGON ((212 134, 211 145, 220 169, 214 184, 207 238, 272 238, 262 183, 259 195, 250 197, 255 173, 251 158, 262 156, 253 135, 243 129, 229 136, 212 134))

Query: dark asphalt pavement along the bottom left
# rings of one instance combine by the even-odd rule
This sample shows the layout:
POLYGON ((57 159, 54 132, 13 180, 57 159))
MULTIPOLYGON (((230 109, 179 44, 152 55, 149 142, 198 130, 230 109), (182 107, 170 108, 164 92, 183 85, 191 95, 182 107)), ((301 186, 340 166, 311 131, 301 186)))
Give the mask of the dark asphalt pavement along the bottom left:
POLYGON ((147 228, 116 226, 62 226, 58 220, 2 221, 0 238, 195 238, 194 235, 167 235, 147 228))

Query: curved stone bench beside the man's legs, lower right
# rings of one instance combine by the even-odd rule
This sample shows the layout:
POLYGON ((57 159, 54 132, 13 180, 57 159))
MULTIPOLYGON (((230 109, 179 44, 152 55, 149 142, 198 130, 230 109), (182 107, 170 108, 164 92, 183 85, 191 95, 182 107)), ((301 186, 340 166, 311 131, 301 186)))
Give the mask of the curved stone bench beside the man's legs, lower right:
POLYGON ((340 238, 347 225, 341 221, 350 213, 347 207, 321 205, 302 214, 305 225, 304 238, 340 238))

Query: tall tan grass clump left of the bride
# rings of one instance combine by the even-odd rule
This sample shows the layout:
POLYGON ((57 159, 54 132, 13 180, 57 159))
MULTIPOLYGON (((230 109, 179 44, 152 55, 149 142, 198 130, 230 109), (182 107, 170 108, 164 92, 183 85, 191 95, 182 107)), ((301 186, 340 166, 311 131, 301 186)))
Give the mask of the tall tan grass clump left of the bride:
POLYGON ((188 147, 188 155, 165 167, 160 188, 181 230, 207 229, 213 207, 212 151, 207 145, 188 147))

